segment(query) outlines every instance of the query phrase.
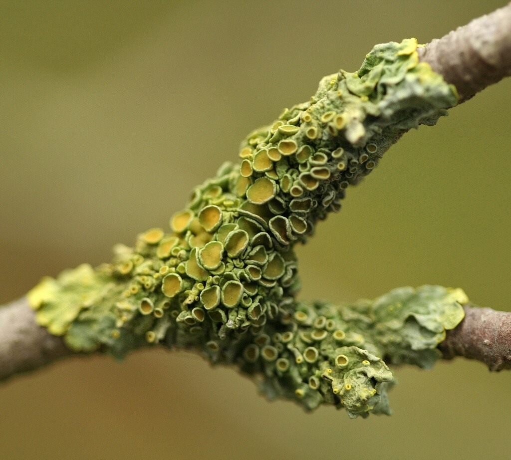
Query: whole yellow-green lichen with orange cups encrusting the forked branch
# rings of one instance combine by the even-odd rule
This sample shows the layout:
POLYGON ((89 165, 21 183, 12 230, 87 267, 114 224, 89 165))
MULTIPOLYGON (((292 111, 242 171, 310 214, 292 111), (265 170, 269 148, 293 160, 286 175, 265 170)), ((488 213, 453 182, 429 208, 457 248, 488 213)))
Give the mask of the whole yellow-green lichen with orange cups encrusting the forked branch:
POLYGON ((350 417, 389 413, 386 362, 430 367, 463 318, 459 289, 400 288, 352 305, 299 302, 296 243, 410 128, 457 103, 415 39, 377 45, 359 71, 324 77, 310 101, 250 133, 174 214, 114 259, 45 278, 37 321, 77 352, 116 357, 156 343, 257 377, 270 398, 350 417))

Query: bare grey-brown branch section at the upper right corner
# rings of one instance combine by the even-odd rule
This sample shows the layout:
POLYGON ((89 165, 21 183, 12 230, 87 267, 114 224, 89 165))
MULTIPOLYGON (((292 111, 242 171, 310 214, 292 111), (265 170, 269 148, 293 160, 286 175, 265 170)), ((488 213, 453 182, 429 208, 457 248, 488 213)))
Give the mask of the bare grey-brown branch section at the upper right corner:
POLYGON ((456 86, 460 103, 511 75, 511 3, 419 50, 421 61, 456 86))

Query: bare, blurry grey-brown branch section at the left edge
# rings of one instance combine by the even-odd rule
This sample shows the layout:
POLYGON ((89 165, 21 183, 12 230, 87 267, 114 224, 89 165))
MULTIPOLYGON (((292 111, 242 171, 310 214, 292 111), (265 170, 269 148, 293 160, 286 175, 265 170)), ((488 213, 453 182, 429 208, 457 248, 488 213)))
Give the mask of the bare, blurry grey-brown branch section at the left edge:
POLYGON ((25 297, 0 307, 0 381, 71 355, 62 339, 35 322, 25 297))

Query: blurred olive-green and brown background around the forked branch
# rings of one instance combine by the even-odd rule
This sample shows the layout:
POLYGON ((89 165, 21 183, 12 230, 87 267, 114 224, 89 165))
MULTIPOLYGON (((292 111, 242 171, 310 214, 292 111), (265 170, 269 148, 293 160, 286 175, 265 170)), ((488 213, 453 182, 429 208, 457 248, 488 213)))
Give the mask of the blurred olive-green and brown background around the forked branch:
MULTIPOLYGON (((0 303, 166 226, 195 183, 375 43, 502 1, 1 1, 0 303)), ((298 249, 303 298, 462 287, 511 309, 511 80, 408 133, 298 249)), ((392 417, 268 403, 187 353, 75 358, 0 386, 2 458, 508 458, 511 373, 396 371, 392 417)))

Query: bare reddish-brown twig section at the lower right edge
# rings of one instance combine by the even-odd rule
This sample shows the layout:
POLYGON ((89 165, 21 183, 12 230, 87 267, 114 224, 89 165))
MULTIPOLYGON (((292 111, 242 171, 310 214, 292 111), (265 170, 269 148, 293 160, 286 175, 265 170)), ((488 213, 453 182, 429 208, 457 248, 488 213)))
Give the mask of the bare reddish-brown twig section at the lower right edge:
POLYGON ((439 349, 444 358, 477 359, 490 371, 511 369, 511 312, 464 306, 465 317, 448 331, 439 349))

